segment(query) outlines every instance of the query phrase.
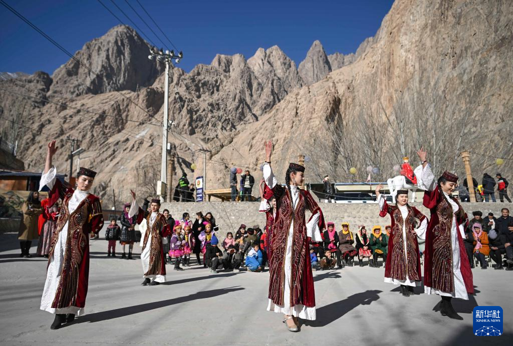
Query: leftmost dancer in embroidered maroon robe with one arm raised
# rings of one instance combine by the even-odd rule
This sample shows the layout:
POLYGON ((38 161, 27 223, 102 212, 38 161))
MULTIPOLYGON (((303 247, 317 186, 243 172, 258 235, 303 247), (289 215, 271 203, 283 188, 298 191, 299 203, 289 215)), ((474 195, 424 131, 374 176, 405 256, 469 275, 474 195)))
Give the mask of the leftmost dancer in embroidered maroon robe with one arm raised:
POLYGON ((55 141, 48 144, 45 170, 40 190, 50 188, 49 205, 63 201, 52 234, 45 288, 41 310, 55 314, 51 329, 61 328, 75 315, 83 315, 89 281, 89 234, 97 234, 103 227, 100 199, 89 193, 96 172, 80 167, 76 176, 76 189, 66 188, 55 179, 52 158, 57 151, 55 141))

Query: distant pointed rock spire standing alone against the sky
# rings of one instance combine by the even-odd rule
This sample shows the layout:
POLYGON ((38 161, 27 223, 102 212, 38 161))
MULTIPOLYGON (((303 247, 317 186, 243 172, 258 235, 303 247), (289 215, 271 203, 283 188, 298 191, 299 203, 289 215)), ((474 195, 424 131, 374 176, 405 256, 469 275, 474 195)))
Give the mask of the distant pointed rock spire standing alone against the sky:
POLYGON ((328 56, 318 40, 314 41, 306 58, 299 64, 299 75, 306 84, 313 84, 331 72, 328 56))

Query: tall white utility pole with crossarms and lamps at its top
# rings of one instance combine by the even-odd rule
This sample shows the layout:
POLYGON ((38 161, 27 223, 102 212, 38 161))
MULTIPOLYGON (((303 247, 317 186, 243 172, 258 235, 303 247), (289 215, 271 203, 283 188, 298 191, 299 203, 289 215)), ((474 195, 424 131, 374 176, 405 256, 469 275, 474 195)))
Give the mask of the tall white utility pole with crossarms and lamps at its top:
POLYGON ((150 55, 148 59, 160 62, 164 61, 166 64, 166 75, 164 76, 164 120, 162 122, 162 158, 161 158, 161 179, 157 182, 157 193, 160 194, 161 202, 165 202, 165 195, 167 192, 167 134, 169 131, 168 121, 168 109, 169 109, 169 66, 172 66, 171 60, 174 59, 176 63, 180 62, 183 53, 180 52, 178 55, 174 55, 174 51, 163 51, 161 48, 157 50, 156 47, 150 49, 150 55))

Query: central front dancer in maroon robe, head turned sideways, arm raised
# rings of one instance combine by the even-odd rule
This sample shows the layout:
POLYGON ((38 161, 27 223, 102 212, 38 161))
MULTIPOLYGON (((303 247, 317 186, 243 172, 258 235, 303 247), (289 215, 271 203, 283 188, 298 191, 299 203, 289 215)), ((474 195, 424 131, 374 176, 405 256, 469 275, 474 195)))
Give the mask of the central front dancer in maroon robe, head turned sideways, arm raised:
POLYGON ((310 265, 309 243, 321 241, 324 229, 322 211, 308 191, 301 190, 305 167, 290 163, 285 174, 286 187, 278 184, 271 169, 272 143, 265 143, 263 174, 276 198, 276 216, 270 230, 268 311, 283 313, 291 332, 299 331, 299 318, 315 319, 315 295, 310 265), (312 216, 305 222, 305 209, 312 216))

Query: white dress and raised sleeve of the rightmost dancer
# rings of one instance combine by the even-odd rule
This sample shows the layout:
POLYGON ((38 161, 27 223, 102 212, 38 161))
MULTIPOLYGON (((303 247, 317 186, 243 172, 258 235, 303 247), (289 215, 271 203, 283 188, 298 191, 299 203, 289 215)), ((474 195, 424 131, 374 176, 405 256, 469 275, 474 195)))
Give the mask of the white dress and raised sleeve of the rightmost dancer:
MULTIPOLYGON (((435 180, 435 176, 431 171, 431 166, 428 164, 426 167, 422 167, 422 165, 415 168, 415 176, 417 177, 417 185, 420 189, 432 191, 437 188, 437 181, 435 180), (420 179, 419 179, 420 178, 420 179)), ((460 209, 458 204, 449 198, 449 195, 443 192, 445 198, 449 202, 452 207, 452 224, 450 230, 451 237, 451 247, 452 247, 452 273, 454 275, 454 291, 451 293, 442 292, 440 290, 434 289, 432 287, 424 286, 424 293, 426 294, 438 294, 447 297, 461 298, 468 300, 467 289, 465 288, 465 282, 463 281, 463 276, 461 275, 460 270, 460 245, 458 243, 458 231, 460 231, 461 236, 465 239, 465 230, 463 229, 463 225, 458 225, 456 222, 456 212, 460 209)))

